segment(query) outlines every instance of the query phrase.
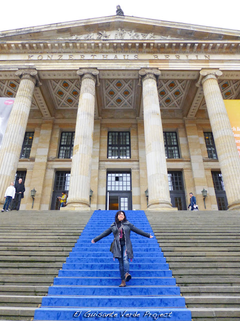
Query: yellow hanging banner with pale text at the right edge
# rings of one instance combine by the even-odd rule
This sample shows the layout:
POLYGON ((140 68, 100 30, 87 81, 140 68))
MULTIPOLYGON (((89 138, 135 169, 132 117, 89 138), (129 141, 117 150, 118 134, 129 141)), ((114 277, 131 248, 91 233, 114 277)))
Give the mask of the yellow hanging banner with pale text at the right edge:
POLYGON ((236 148, 240 156, 240 100, 228 99, 224 100, 224 104, 235 138, 236 148))

